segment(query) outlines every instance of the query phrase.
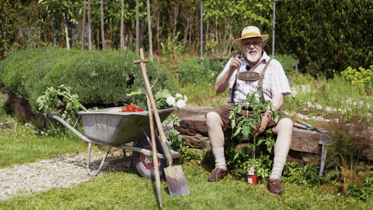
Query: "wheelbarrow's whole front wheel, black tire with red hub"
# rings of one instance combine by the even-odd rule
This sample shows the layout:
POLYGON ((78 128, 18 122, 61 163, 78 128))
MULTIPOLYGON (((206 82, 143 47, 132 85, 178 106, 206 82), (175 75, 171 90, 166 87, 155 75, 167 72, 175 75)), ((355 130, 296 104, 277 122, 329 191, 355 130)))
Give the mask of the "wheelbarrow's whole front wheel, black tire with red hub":
MULTIPOLYGON (((146 137, 142 138, 137 142, 136 147, 142 148, 145 150, 153 151, 146 137)), ((159 138, 156 136, 156 147, 157 152, 164 154, 162 143, 159 138)), ((142 177, 145 179, 156 179, 153 157, 146 156, 144 153, 133 152, 135 166, 142 177)), ((167 162, 165 159, 158 158, 159 166, 159 176, 160 178, 164 177, 164 167, 167 167, 167 162)))

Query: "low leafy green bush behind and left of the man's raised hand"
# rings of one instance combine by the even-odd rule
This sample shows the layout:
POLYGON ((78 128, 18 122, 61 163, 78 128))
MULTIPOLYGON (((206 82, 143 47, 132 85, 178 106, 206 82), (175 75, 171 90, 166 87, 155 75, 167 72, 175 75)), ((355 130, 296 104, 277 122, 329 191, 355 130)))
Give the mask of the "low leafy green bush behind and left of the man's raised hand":
POLYGON ((180 63, 180 68, 176 71, 176 73, 178 73, 176 78, 182 83, 196 82, 202 78, 212 81, 216 80, 221 71, 222 66, 220 66, 218 60, 188 59, 180 63))

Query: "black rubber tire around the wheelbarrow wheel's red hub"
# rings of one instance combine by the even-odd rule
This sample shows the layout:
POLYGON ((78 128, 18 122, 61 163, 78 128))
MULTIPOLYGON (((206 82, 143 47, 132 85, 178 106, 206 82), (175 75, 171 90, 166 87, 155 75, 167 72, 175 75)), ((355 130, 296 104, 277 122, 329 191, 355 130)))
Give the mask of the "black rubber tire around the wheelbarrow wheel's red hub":
MULTIPOLYGON (((149 148, 150 144, 149 144, 147 138, 144 137, 144 138, 140 139, 140 141, 137 142, 135 147, 142 148, 142 149, 145 148, 145 147, 149 148)), ((157 152, 158 153, 164 154, 162 143, 157 136, 156 136, 156 147, 157 147, 157 152)), ((142 177, 144 177, 145 179, 156 180, 156 175, 155 175, 155 172, 154 172, 154 168, 153 168, 153 172, 151 172, 151 171, 145 169, 143 163, 141 163, 141 153, 133 151, 133 156, 134 156, 135 166, 136 166, 138 172, 140 173, 140 175, 142 177)), ((167 167, 167 162, 166 162, 166 159, 160 159, 159 158, 158 160, 159 160, 159 176, 162 179, 164 177, 164 167, 167 167)))

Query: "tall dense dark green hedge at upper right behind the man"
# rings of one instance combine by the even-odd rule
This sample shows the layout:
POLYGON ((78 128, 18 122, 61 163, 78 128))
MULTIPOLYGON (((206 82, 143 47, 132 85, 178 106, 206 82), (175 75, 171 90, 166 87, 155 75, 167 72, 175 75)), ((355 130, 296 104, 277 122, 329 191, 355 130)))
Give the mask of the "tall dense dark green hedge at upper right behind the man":
MULTIPOLYGON (((300 68, 369 69, 373 61, 373 1, 276 2, 275 50, 294 53, 300 68)), ((270 31, 269 28, 266 31, 270 31)), ((271 45, 269 40, 269 45, 271 45)))

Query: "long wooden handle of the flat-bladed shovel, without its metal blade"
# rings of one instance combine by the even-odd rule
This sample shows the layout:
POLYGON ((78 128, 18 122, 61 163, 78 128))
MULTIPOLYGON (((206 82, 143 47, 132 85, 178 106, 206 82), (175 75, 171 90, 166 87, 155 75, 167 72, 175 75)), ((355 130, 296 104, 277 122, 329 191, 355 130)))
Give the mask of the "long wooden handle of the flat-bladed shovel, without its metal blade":
MULTIPOLYGON (((141 56, 141 60, 145 59, 145 57, 144 57, 144 50, 142 50, 142 48, 140 49, 140 56, 141 56)), ((159 115, 158 115, 158 110, 157 110, 156 102, 154 101, 153 93, 151 92, 151 87, 150 87, 148 75, 147 75, 147 72, 146 72, 145 63, 141 62, 140 63, 140 67, 141 67, 142 76, 144 76, 146 94, 149 97, 151 108, 153 109, 153 114, 154 114, 154 117, 156 119, 158 132, 159 132, 159 135, 161 137, 161 141, 162 141, 163 147, 166 147, 166 144, 167 144, 166 137, 164 136, 162 122, 161 122, 161 120, 159 118, 159 115)), ((164 154, 166 155, 167 162, 168 162, 169 166, 173 166, 172 165, 172 157, 171 157, 170 151, 167 150, 167 149, 164 149, 164 154)))

